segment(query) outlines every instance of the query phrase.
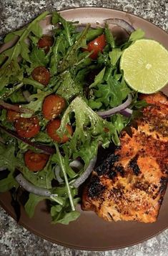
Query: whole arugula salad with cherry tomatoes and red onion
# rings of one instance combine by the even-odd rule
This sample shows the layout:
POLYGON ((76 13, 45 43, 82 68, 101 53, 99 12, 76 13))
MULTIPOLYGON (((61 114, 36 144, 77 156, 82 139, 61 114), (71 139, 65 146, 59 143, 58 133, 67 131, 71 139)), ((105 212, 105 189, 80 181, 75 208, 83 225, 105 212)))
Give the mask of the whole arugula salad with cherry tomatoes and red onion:
POLYGON ((0 54, 0 192, 11 192, 17 220, 21 204, 33 217, 47 200, 52 223, 68 224, 79 217, 79 186, 99 147, 119 146, 120 132, 147 106, 119 68, 144 31, 129 27, 119 42, 108 22, 80 26, 53 12, 46 35, 39 21, 48 14, 4 38, 16 44, 0 54))

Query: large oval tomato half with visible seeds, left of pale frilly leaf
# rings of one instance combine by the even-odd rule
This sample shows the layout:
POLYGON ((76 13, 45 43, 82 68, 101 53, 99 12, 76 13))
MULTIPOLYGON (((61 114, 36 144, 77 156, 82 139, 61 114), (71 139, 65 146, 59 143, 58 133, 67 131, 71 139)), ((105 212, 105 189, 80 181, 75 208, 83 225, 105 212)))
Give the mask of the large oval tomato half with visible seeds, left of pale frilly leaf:
POLYGON ((46 119, 56 118, 65 107, 65 99, 59 95, 51 94, 44 99, 42 112, 46 119))

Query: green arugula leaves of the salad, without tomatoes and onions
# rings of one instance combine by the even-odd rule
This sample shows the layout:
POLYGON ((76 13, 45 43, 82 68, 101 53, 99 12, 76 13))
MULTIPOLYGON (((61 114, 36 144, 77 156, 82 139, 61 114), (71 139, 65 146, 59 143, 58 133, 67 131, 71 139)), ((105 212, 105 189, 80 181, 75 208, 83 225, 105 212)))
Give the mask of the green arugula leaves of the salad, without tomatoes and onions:
MULTIPOLYGON (((7 110, 1 109, 1 127, 9 129, 11 136, 10 132, 6 134, 3 132, 5 129, 0 129, 0 167, 4 175, 0 179, 0 192, 12 188, 15 191, 19 187, 15 177, 17 172, 21 172, 24 179, 32 185, 49 189, 52 195, 58 196, 56 200, 54 197, 29 193, 24 205, 27 215, 33 217, 36 205, 47 200, 52 223, 67 225, 79 217, 76 205, 80 198, 73 183, 97 155, 99 145, 104 148, 109 147, 110 143, 119 145, 122 129, 146 106, 145 102, 137 100, 137 94, 129 89, 123 72, 119 69, 122 52, 135 40, 141 39, 144 31, 137 29, 127 41, 118 45, 107 24, 104 28, 95 29, 87 24, 83 31, 78 31, 75 22, 66 21, 60 14, 53 12, 51 23, 54 29, 51 36, 54 43, 46 53, 38 46, 38 41, 43 36, 39 21, 48 14, 49 12, 44 12, 25 28, 11 32, 4 38, 5 43, 14 40, 14 46, 0 54, 0 99, 8 104, 30 109, 31 114, 21 113, 21 117, 36 116, 40 130, 35 137, 30 138, 34 147, 24 138, 13 138, 15 123, 9 122, 7 110), (107 45, 99 52, 98 58, 93 60, 92 51, 86 51, 87 44, 102 34, 107 45), (46 87, 31 76, 36 67, 46 67, 49 70, 50 80, 46 87), (29 97, 25 97, 25 92, 29 97), (103 111, 119 106, 131 92, 133 100, 129 107, 134 110, 132 117, 117 113, 109 119, 102 119, 95 112, 97 109, 103 111), (55 143, 46 132, 50 121, 44 118, 42 107, 44 99, 50 94, 59 94, 66 100, 65 109, 56 117, 61 119, 56 134, 59 137, 69 137, 64 144, 55 143), (73 129, 71 136, 66 130, 67 124, 73 129), (56 151, 41 171, 31 172, 24 162, 24 154, 27 150, 41 153, 39 147, 36 147, 39 143, 45 147, 53 147, 56 151), (80 157, 84 165, 79 171, 69 165, 77 157, 80 157), (60 183, 56 177, 57 167, 62 180, 60 183)), ((14 197, 16 205, 17 198, 18 195, 14 197)))

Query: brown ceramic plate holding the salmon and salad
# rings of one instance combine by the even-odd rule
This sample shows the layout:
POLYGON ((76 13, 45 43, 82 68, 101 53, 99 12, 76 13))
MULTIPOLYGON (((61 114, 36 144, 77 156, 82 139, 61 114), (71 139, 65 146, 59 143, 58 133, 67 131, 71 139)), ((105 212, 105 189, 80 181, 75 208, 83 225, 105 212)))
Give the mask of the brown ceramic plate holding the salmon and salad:
MULTIPOLYGON (((149 23, 132 14, 122 11, 102 8, 81 8, 61 11, 65 19, 80 21, 80 23, 99 24, 104 19, 119 18, 128 21, 134 28, 142 28, 146 36, 155 39, 168 48, 168 34, 154 24, 149 23)), ((46 26, 44 22, 43 26, 46 26)), ((167 91, 168 88, 164 90, 167 91)), ((14 217, 14 210, 10 204, 9 193, 0 195, 2 207, 14 217)), ((80 210, 80 206, 79 210, 80 210)), ((81 210, 80 210, 81 211, 81 210)), ((36 207, 35 216, 32 219, 26 216, 21 209, 20 225, 27 230, 56 244, 73 247, 81 250, 113 250, 117 248, 135 245, 138 242, 149 239, 168 227, 168 191, 164 196, 164 202, 159 212, 157 222, 144 224, 139 222, 106 222, 97 217, 94 212, 82 212, 75 222, 69 225, 51 225, 51 217, 46 212, 44 203, 36 207)))

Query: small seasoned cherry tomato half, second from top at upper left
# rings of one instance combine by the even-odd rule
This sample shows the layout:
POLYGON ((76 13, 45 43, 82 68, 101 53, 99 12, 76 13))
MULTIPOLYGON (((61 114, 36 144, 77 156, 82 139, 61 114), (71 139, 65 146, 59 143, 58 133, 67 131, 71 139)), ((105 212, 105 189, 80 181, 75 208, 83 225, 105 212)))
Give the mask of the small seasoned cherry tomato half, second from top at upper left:
POLYGON ((32 72, 31 76, 34 80, 37 82, 47 85, 49 84, 50 80, 50 72, 49 69, 46 69, 46 67, 36 67, 32 72))

